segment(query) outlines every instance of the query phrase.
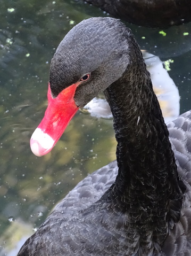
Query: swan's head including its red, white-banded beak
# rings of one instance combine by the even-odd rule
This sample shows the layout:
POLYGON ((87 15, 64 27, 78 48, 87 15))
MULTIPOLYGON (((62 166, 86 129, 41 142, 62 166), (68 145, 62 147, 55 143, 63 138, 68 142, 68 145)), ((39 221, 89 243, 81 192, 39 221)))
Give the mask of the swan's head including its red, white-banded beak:
POLYGON ((124 73, 129 62, 130 30, 113 18, 90 18, 73 27, 51 61, 48 107, 31 137, 31 150, 52 150, 79 107, 124 73))

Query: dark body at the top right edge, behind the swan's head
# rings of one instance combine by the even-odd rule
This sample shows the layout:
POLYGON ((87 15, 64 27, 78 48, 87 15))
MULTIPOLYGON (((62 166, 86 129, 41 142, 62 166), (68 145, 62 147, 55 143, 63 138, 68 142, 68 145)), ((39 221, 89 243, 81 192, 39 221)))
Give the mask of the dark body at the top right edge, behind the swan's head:
POLYGON ((152 28, 167 28, 191 21, 190 0, 84 0, 113 17, 152 28))

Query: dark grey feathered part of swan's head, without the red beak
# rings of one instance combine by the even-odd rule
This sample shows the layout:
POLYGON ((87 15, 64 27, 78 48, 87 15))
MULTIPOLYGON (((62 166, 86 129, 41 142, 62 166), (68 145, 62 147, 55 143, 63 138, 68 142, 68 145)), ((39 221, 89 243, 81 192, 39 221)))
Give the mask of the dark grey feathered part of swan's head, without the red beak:
POLYGON ((83 107, 118 80, 128 65, 128 32, 113 18, 90 18, 73 27, 51 61, 49 83, 53 97, 90 74, 74 95, 76 105, 83 107))

